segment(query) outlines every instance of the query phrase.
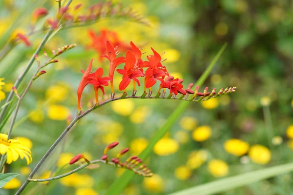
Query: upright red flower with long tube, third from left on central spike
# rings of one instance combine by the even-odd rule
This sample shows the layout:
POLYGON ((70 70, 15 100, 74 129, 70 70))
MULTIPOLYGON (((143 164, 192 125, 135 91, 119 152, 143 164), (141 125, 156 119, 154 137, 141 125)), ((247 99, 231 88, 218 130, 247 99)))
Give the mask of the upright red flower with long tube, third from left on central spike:
MULTIPOLYGON (((125 58, 124 57, 119 57, 119 58, 116 59, 116 53, 115 53, 115 50, 114 50, 113 46, 111 45, 111 43, 109 41, 107 41, 106 42, 106 45, 107 45, 107 53, 108 53, 108 56, 103 56, 103 57, 105 57, 106 59, 108 59, 110 61, 109 77, 110 78, 113 78, 116 67, 119 64, 124 63, 125 62, 125 58)), ((133 55, 133 57, 134 57, 134 55, 133 55)), ((134 63, 135 63, 135 58, 134 58, 134 63)), ((134 63, 133 63, 133 65, 134 65, 134 63)), ((111 89, 112 89, 112 93, 113 93, 114 92, 114 89, 113 89, 113 80, 111 80, 111 89)))

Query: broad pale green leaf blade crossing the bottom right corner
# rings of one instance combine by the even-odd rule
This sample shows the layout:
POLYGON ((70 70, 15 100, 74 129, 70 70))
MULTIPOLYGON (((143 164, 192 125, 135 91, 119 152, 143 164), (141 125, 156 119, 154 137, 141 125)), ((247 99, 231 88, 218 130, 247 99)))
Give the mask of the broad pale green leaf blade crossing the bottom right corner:
POLYGON ((213 195, 293 171, 293 163, 277 165, 198 185, 170 195, 213 195))

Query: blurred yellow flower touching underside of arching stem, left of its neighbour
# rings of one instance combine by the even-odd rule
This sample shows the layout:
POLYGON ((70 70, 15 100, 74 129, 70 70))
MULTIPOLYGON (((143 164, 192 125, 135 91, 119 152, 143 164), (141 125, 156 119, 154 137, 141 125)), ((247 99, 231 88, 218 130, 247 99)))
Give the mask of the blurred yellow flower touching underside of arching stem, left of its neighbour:
POLYGON ((123 99, 119 101, 113 101, 111 106, 115 113, 122 116, 128 116, 134 109, 134 102, 131 99, 123 99))

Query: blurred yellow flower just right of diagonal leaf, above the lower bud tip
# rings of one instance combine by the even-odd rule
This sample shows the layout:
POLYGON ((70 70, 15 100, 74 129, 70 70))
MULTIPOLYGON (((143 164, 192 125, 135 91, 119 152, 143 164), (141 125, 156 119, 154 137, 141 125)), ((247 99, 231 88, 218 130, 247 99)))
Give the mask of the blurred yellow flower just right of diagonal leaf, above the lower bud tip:
POLYGON ((160 156, 168 156, 174 154, 179 149, 179 144, 174 139, 163 137, 153 148, 155 154, 160 156))

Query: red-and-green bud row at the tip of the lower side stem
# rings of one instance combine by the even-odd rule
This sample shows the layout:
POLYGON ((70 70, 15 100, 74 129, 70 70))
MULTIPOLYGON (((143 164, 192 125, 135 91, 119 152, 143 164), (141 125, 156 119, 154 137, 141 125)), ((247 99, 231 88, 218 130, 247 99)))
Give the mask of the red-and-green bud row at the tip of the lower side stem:
MULTIPOLYGON (((107 155, 108 151, 115 148, 118 144, 119 142, 116 141, 116 142, 110 143, 105 148, 104 155, 102 156, 101 159, 105 160, 106 164, 109 163, 108 155, 107 155)), ((151 173, 151 170, 148 167, 146 167, 145 164, 142 164, 143 160, 140 159, 139 157, 130 156, 129 158, 127 158, 125 162, 122 162, 120 160, 120 157, 126 154, 128 151, 129 151, 128 148, 123 149, 117 154, 115 158, 111 158, 111 162, 114 163, 116 166, 133 171, 135 174, 138 174, 140 176, 151 177, 153 175, 151 173)))

